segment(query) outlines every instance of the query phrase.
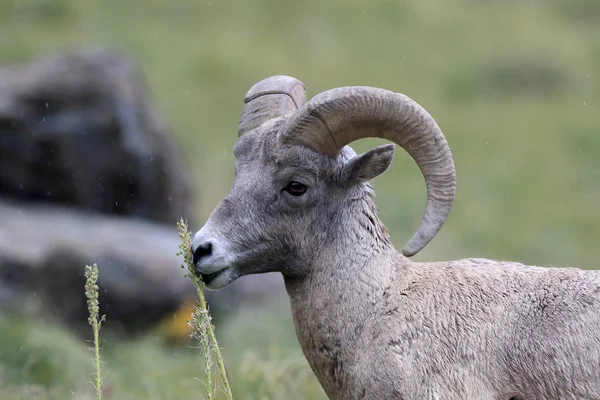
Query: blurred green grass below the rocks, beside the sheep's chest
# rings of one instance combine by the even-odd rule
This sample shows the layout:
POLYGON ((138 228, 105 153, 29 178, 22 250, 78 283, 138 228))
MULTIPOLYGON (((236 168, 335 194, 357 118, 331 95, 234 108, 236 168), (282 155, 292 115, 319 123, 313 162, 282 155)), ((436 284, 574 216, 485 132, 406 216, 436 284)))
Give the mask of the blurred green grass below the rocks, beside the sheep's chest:
MULTIPOLYGON (((285 305, 245 310, 219 326, 234 398, 325 398, 286 311, 285 305)), ((94 399, 90 345, 47 322, 0 318, 0 398, 94 399)), ((103 398, 203 398, 197 345, 170 344, 157 332, 134 341, 103 333, 103 398)))

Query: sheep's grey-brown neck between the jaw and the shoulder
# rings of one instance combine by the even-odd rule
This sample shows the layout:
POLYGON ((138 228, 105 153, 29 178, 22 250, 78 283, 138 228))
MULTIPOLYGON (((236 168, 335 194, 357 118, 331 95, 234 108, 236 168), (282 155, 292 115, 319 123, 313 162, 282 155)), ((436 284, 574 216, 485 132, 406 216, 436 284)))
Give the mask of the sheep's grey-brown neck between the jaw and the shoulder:
POLYGON ((352 205, 306 276, 286 279, 298 340, 326 391, 346 386, 365 321, 381 304, 396 261, 403 258, 371 199, 352 205))

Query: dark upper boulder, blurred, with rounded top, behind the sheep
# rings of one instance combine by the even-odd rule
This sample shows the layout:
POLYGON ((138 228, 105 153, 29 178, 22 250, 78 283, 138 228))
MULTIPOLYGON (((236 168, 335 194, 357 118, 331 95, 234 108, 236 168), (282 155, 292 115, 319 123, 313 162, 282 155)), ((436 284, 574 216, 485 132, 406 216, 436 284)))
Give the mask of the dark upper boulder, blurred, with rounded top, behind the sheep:
POLYGON ((192 195, 136 65, 108 50, 0 67, 0 195, 175 224, 192 195))

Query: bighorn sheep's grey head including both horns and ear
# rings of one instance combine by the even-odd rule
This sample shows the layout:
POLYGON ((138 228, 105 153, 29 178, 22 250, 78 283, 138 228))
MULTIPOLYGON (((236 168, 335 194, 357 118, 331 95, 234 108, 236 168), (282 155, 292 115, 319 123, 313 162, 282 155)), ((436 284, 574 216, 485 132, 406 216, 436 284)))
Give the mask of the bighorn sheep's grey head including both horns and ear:
POLYGON ((456 176, 446 139, 403 94, 354 86, 306 102, 302 82, 273 76, 246 94, 238 135, 231 191, 193 240, 196 268, 209 288, 254 273, 302 275, 331 241, 370 240, 355 237, 360 219, 349 211, 370 201, 368 182, 388 168, 395 145, 356 155, 347 145, 361 138, 402 146, 425 178, 425 214, 405 256, 427 245, 450 211, 456 176))

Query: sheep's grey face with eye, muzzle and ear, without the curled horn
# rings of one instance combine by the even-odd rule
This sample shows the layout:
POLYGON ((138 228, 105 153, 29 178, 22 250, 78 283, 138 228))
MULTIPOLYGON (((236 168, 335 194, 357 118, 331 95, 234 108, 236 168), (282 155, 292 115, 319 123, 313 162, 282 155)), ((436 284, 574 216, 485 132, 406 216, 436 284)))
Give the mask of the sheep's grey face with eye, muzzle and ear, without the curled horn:
POLYGON ((346 146, 327 157, 305 146, 282 144, 280 120, 242 136, 234 147, 231 191, 196 233, 197 272, 210 289, 248 274, 280 271, 303 275, 344 220, 350 193, 379 175, 394 145, 361 156, 346 146))

